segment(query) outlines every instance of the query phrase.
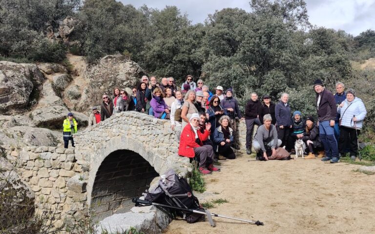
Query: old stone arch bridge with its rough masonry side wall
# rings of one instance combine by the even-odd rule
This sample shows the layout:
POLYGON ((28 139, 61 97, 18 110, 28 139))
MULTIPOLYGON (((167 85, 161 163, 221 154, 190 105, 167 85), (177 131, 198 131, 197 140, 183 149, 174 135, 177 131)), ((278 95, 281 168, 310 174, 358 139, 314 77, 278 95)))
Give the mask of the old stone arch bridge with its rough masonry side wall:
POLYGON ((178 137, 167 120, 122 112, 74 136, 76 148, 26 147, 9 152, 17 173, 34 191, 41 212, 55 213, 55 226, 88 210, 101 220, 124 213, 155 176, 173 168, 186 174, 178 137))

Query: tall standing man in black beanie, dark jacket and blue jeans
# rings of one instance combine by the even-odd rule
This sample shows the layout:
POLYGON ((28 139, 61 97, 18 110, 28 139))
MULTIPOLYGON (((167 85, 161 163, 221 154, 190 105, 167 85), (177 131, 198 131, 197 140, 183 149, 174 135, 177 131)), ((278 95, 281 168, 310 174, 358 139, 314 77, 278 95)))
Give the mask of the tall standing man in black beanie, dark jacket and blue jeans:
POLYGON ((333 131, 337 114, 336 101, 333 94, 324 89, 323 82, 320 79, 315 80, 313 87, 316 93, 315 103, 318 114, 319 136, 326 152, 326 157, 323 157, 322 161, 336 163, 340 160, 333 131))

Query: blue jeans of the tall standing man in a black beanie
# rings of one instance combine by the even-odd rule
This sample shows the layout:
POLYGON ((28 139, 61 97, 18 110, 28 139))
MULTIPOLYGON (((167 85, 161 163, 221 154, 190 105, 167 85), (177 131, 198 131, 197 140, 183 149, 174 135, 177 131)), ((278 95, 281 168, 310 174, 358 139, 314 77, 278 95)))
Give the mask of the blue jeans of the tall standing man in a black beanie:
POLYGON ((326 151, 326 156, 338 157, 337 141, 334 137, 334 130, 333 127, 330 126, 329 120, 319 122, 319 137, 326 151))

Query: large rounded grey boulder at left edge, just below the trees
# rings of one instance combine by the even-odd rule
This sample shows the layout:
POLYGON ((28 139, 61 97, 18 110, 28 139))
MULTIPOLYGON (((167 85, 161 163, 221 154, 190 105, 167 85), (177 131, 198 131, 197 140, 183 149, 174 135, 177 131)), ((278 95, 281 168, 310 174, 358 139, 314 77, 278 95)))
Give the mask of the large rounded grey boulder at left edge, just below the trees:
POLYGON ((9 114, 36 103, 43 80, 35 64, 0 61, 0 113, 9 114))

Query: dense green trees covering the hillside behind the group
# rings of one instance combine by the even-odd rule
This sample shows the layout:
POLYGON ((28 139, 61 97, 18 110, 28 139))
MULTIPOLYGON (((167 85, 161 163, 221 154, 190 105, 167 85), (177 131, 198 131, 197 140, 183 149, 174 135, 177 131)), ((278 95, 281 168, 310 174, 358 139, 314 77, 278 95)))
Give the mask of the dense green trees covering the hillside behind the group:
POLYGON ((175 6, 137 9, 115 0, 0 3, 0 59, 61 62, 70 51, 95 62, 120 53, 149 75, 182 82, 191 74, 211 88, 233 87, 243 105, 254 91, 273 100, 288 92, 292 108, 306 115, 315 114, 316 78, 332 91, 342 81, 358 89, 367 125, 375 126, 374 71, 354 71, 351 65, 375 57, 375 31, 354 37, 312 26, 304 0, 251 0, 251 12, 226 8, 209 14, 204 24, 192 24, 175 6), (67 15, 78 20, 70 37, 77 43, 70 48, 45 38, 47 25, 57 28, 67 15))

